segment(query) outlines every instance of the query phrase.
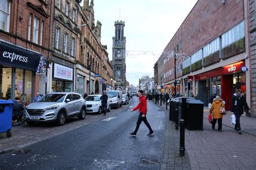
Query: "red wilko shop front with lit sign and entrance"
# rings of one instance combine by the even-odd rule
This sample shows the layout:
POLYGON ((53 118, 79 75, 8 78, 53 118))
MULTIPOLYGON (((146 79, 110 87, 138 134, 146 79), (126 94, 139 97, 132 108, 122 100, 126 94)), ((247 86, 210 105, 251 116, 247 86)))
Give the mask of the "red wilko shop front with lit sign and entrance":
POLYGON ((195 76, 198 98, 208 106, 212 94, 219 95, 231 109, 231 98, 235 90, 241 89, 246 95, 246 76, 242 71, 245 61, 232 63, 195 76))

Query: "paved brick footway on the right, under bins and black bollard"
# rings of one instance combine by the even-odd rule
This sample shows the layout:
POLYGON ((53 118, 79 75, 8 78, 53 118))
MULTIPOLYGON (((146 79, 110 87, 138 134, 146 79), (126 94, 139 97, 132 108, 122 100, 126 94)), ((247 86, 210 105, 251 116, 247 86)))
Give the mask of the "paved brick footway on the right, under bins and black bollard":
MULTIPOLYGON (((159 107, 165 110, 165 106, 159 107)), ((203 131, 185 130, 183 158, 178 155, 179 130, 174 130, 172 121, 167 122, 169 133, 165 136, 161 169, 256 169, 256 119, 242 116, 240 135, 230 124, 231 112, 224 115, 222 132, 212 130, 208 113, 209 109, 204 108, 203 131)))

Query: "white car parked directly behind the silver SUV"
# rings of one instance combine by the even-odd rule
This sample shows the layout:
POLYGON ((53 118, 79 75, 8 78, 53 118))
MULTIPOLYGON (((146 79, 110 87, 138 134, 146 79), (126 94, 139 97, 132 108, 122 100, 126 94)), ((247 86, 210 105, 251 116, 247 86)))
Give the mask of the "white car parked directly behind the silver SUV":
MULTIPOLYGON (((85 98, 86 100, 86 111, 88 113, 103 113, 102 101, 100 100, 101 94, 89 95, 85 98)), ((107 111, 111 111, 110 99, 107 100, 107 111)))

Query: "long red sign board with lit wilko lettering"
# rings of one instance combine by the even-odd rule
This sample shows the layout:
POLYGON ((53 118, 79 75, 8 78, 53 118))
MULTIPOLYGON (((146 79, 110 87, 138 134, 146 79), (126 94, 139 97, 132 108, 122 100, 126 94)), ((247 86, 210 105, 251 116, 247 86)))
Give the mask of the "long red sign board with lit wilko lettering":
POLYGON ((212 78, 215 76, 220 76, 223 74, 239 72, 239 71, 241 71, 243 66, 245 66, 245 62, 237 62, 237 63, 233 63, 233 64, 226 65, 223 67, 219 67, 218 69, 207 71, 207 72, 204 72, 204 73, 194 76, 194 80, 196 80, 196 81, 204 80, 204 79, 212 78))

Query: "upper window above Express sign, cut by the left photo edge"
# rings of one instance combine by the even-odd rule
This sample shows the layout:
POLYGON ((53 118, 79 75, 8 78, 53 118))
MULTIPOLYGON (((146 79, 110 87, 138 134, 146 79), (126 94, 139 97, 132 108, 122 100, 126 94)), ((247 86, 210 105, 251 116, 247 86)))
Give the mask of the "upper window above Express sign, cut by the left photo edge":
POLYGON ((10 2, 0 1, 0 30, 9 32, 10 27, 10 2))

